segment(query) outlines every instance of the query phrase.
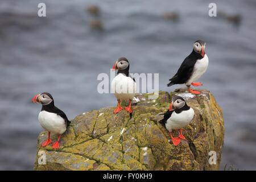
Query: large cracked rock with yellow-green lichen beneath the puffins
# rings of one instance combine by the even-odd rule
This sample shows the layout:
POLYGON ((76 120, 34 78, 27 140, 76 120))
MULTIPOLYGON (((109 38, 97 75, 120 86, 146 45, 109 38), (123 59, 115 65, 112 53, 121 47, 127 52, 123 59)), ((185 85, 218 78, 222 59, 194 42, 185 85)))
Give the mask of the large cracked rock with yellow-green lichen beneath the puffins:
MULTIPOLYGON (((177 89, 159 92, 156 100, 150 94, 139 94, 133 106, 133 118, 122 110, 113 114, 114 107, 105 107, 77 115, 63 135, 60 148, 40 147, 47 132, 38 137, 38 151, 46 154, 46 164, 36 170, 217 170, 224 142, 224 120, 213 95, 201 90, 199 96, 177 89), (191 125, 183 130, 187 141, 179 146, 169 143, 167 130, 158 123, 171 97, 184 97, 195 110, 191 125), (217 163, 210 165, 209 151, 216 151, 217 163)), ((53 142, 57 136, 53 135, 53 142)), ((39 154, 39 153, 37 153, 39 154)))

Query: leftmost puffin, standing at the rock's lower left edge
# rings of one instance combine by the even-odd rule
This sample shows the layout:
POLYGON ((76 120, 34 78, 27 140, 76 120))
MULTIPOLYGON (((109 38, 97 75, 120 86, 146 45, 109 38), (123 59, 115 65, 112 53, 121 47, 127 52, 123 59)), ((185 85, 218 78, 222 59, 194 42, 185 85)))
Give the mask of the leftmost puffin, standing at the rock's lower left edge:
POLYGON ((36 94, 32 98, 32 102, 42 104, 38 120, 43 129, 48 131, 48 138, 41 144, 41 146, 46 147, 48 144, 52 143, 50 135, 53 133, 58 135, 58 139, 52 144, 52 148, 58 149, 60 147, 60 137, 65 133, 71 122, 68 120, 67 115, 54 105, 54 100, 51 94, 47 92, 36 94))

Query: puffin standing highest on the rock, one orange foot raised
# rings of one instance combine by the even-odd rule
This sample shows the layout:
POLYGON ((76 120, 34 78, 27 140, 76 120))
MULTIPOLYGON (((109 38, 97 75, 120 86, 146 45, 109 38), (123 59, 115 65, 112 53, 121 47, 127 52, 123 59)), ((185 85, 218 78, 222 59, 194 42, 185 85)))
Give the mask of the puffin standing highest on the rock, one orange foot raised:
POLYGON ((188 92, 193 94, 200 94, 199 91, 193 90, 193 86, 202 86, 201 82, 197 81, 207 71, 209 59, 205 53, 205 42, 203 40, 196 40, 193 44, 193 50, 188 55, 183 63, 180 65, 174 77, 170 78, 167 86, 175 84, 185 84, 188 87, 188 92))

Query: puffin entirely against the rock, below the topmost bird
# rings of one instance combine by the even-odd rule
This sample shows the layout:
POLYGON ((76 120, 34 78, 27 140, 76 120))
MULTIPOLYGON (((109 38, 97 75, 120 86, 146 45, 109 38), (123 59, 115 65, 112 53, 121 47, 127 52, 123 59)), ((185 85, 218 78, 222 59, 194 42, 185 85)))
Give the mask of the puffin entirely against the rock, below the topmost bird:
POLYGON ((195 111, 189 107, 184 98, 180 96, 172 97, 169 109, 164 113, 164 118, 159 121, 168 131, 174 146, 177 146, 181 139, 185 140, 182 128, 192 122, 195 111), (172 130, 178 130, 179 136, 172 137, 172 130))

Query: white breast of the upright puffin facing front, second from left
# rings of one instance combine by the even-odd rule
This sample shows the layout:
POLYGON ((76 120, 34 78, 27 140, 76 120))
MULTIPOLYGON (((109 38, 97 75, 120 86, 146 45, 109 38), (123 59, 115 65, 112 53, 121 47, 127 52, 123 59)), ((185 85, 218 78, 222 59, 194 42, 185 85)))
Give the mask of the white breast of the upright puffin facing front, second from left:
POLYGON ((118 100, 132 100, 137 93, 137 84, 133 78, 119 73, 112 80, 111 89, 118 100))

